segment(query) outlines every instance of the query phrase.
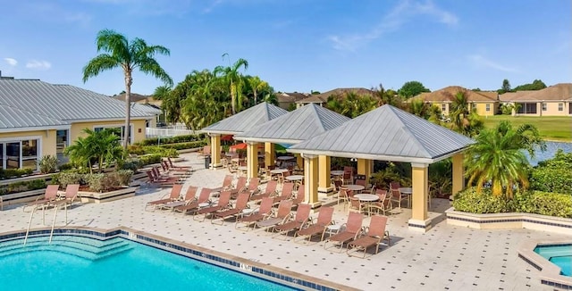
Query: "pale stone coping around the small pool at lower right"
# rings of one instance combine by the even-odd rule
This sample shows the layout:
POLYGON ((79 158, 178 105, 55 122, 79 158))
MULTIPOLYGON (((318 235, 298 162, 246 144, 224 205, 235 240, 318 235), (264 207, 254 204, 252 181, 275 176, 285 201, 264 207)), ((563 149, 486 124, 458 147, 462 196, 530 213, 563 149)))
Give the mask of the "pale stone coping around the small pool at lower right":
POLYGON ((543 285, 572 289, 572 277, 560 275, 560 268, 546 260, 542 255, 534 253, 537 245, 571 245, 572 240, 531 240, 520 245, 518 257, 528 262, 536 270, 540 270, 540 280, 543 285))

